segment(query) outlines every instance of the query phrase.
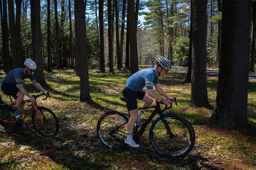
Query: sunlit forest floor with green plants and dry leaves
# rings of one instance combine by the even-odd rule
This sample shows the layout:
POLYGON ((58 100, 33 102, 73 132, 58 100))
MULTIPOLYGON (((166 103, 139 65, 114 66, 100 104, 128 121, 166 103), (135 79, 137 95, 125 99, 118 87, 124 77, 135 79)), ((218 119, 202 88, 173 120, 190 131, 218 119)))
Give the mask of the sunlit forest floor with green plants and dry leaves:
MULTIPOLYGON (((248 126, 234 130, 208 124, 212 109, 188 107, 191 84, 183 83, 186 72, 172 70, 159 78, 161 87, 170 96, 176 96, 178 106, 170 113, 180 113, 188 119, 196 132, 196 143, 184 158, 159 156, 151 147, 148 130, 140 140, 139 148, 110 149, 98 140, 96 124, 106 111, 127 112, 119 100, 129 77, 126 72, 101 74, 90 70, 91 102, 79 102, 79 78, 73 70, 45 72, 50 100, 38 100, 39 106, 53 110, 60 129, 54 138, 43 138, 33 129, 30 119, 25 130, 12 134, 0 133, 0 169, 88 169, 88 170, 233 170, 256 169, 256 81, 249 82, 248 126)), ((4 75, 0 75, 1 78, 4 75)), ((208 98, 214 106, 218 77, 207 77, 208 98)), ((37 90, 25 82, 30 93, 37 90)), ((5 103, 9 100, 1 92, 5 103)), ((139 103, 141 104, 141 103, 139 103)), ((26 110, 26 109, 25 109, 26 110)), ((146 118, 150 113, 145 113, 146 118)))

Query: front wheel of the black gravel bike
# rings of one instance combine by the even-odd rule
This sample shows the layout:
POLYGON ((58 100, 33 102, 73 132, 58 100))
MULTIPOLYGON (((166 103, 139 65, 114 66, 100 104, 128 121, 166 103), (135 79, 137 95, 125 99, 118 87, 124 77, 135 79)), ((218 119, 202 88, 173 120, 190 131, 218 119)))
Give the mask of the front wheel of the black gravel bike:
POLYGON ((192 150, 196 140, 193 126, 180 115, 165 114, 163 116, 174 137, 170 138, 159 117, 150 127, 149 140, 151 145, 158 154, 165 157, 185 157, 192 150))

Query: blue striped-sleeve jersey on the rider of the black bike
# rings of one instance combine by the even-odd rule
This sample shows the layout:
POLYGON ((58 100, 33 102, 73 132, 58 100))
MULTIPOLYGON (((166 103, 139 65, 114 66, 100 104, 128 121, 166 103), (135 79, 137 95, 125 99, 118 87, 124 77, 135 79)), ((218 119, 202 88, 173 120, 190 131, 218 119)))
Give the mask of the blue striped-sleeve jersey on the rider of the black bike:
POLYGON ((146 68, 131 75, 126 81, 126 87, 133 91, 143 90, 145 86, 147 90, 153 90, 153 83, 159 83, 158 77, 156 77, 155 69, 146 68))

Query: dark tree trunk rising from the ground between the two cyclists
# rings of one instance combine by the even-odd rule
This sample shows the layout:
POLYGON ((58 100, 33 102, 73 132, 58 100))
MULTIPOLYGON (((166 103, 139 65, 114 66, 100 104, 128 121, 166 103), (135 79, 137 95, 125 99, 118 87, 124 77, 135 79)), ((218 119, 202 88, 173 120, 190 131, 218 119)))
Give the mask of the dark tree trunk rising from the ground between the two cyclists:
POLYGON ((89 70, 88 70, 88 58, 87 58, 87 43, 86 43, 86 22, 85 22, 85 2, 84 0, 75 0, 77 27, 76 37, 78 38, 78 53, 80 62, 80 96, 79 101, 91 101, 90 88, 89 88, 89 70))

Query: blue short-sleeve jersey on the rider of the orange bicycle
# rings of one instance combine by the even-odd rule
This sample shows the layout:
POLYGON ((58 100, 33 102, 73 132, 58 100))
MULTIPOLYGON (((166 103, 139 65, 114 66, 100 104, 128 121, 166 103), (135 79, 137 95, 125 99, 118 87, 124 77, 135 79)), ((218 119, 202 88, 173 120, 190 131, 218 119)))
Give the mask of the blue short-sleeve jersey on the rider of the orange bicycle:
POLYGON ((11 85, 23 84, 22 80, 29 78, 31 81, 35 80, 34 75, 28 75, 23 72, 23 68, 12 69, 2 80, 4 83, 11 85))

